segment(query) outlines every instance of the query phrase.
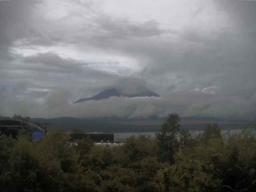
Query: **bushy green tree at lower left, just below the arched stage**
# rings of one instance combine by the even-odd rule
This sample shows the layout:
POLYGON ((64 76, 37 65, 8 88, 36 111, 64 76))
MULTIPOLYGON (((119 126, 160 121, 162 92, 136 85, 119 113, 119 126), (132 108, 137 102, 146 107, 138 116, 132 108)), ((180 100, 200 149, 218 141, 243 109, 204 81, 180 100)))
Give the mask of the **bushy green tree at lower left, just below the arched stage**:
POLYGON ((16 140, 8 163, 16 180, 17 191, 57 192, 63 188, 60 161, 49 158, 37 143, 25 138, 16 140))

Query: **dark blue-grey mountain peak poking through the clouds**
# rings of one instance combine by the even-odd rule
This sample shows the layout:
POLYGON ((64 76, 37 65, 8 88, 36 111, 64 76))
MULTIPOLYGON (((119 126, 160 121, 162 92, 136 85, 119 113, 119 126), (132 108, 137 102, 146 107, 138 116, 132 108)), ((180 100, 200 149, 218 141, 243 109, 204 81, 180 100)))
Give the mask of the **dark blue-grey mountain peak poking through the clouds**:
POLYGON ((149 89, 147 89, 144 86, 139 86, 138 88, 136 88, 136 90, 132 90, 131 92, 129 92, 126 89, 111 88, 111 89, 104 90, 93 97, 79 99, 74 103, 80 103, 80 102, 85 102, 85 101, 89 101, 89 100, 108 99, 112 96, 118 96, 118 97, 120 97, 120 96, 126 96, 126 97, 152 97, 152 96, 154 96, 154 97, 159 97, 160 95, 150 91, 149 89))

